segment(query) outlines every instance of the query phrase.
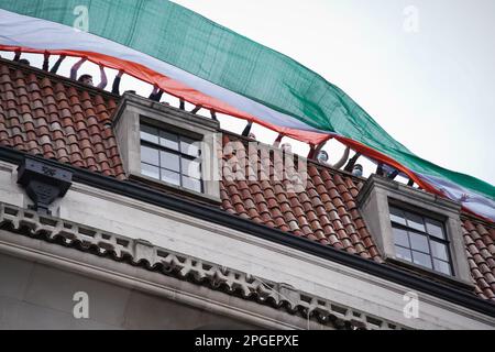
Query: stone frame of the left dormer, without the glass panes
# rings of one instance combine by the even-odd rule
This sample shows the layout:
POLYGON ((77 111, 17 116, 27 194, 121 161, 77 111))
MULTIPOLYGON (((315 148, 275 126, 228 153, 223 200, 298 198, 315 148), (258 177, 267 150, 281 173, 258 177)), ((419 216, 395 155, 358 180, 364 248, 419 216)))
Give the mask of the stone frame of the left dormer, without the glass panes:
POLYGON ((221 143, 218 121, 127 92, 117 108, 113 130, 128 178, 206 202, 221 201, 218 176, 220 163, 216 153, 221 143), (201 191, 157 179, 142 172, 142 125, 152 125, 161 131, 200 142, 201 191))

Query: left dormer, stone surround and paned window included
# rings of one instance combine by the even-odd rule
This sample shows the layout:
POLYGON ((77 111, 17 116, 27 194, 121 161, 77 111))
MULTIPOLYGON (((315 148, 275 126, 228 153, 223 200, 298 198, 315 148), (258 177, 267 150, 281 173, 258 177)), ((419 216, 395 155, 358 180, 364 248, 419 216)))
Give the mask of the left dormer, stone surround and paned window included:
POLYGON ((220 202, 218 121, 124 94, 113 129, 129 178, 179 197, 220 202))

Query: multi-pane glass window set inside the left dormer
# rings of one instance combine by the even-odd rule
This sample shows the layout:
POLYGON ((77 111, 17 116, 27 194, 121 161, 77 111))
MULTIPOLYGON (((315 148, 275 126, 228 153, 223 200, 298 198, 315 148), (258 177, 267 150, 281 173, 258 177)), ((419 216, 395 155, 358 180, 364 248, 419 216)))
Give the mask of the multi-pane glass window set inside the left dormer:
POLYGON ((201 151, 197 141, 141 124, 141 173, 202 191, 201 151))

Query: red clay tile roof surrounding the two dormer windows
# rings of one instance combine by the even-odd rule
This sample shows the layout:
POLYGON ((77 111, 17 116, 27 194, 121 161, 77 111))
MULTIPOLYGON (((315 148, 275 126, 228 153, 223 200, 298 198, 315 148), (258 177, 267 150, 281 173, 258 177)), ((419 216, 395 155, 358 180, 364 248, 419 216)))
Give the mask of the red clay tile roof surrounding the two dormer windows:
MULTIPOLYGON (((124 179, 109 125, 117 100, 106 91, 0 59, 0 145, 124 179)), ((362 180, 311 162, 308 175, 305 193, 287 193, 275 180, 223 179, 221 207, 383 263, 356 208, 362 180)), ((475 293, 495 301, 495 228, 466 218, 463 231, 475 293)))

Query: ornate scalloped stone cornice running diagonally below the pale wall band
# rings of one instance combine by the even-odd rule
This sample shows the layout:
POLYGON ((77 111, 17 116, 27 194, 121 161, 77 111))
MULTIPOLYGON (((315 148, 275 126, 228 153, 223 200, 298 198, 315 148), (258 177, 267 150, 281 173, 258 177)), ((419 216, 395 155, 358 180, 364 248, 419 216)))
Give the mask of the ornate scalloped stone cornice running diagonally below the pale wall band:
MULTIPOLYGON (((197 257, 157 248, 146 241, 130 239, 73 221, 40 216, 34 211, 15 206, 0 204, 0 224, 11 226, 13 231, 21 231, 28 235, 36 235, 38 238, 37 241, 42 239, 50 242, 62 241, 67 246, 88 251, 95 250, 100 255, 111 254, 118 261, 127 258, 133 264, 144 264, 145 267, 153 268, 154 272, 160 272, 166 276, 194 280, 198 285, 212 287, 215 290, 227 294, 238 293, 244 299, 255 300, 272 308, 286 306, 286 311, 290 315, 311 312, 311 316, 317 318, 322 326, 330 324, 330 327, 333 327, 336 324, 341 328, 385 330, 406 328, 285 284, 273 283, 215 263, 205 262, 197 257)), ((7 249, 9 242, 12 241, 12 237, 15 235, 20 237, 13 232, 3 231, 0 246, 7 249), (10 235, 7 235, 10 238, 10 241, 6 241, 4 235, 7 233, 10 233, 10 235)), ((15 248, 15 245, 13 246, 15 248)), ((16 248, 20 249, 19 245, 16 248)), ((26 248, 24 246, 25 250, 26 248)), ((10 251, 12 252, 12 250, 10 251)), ((37 252, 37 255, 41 255, 40 250, 31 250, 31 252, 37 252)), ((80 264, 79 261, 64 256, 51 255, 51 257, 57 263, 66 261, 70 264, 80 264)), ((89 270, 89 266, 87 267, 89 270)), ((96 270, 96 267, 92 268, 96 270)), ((98 268, 100 272, 101 270, 101 267, 98 268)), ((103 270, 103 272, 107 275, 116 274, 108 270, 103 270)), ((138 277, 141 276, 138 271, 135 273, 138 277)), ((133 279, 139 282, 136 276, 133 279)), ((194 295, 180 292, 175 292, 174 295, 179 294, 194 295)), ((296 327, 293 326, 290 328, 296 327)))

